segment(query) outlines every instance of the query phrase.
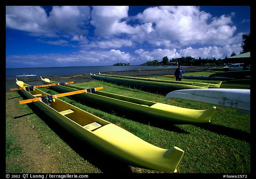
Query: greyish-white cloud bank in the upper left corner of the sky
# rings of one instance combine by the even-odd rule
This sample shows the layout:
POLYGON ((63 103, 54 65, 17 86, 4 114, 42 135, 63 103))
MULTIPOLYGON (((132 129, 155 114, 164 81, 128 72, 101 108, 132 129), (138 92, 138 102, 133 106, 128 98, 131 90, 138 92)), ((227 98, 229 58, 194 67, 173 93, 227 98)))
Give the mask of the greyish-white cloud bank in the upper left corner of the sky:
POLYGON ((89 19, 88 6, 53 6, 49 17, 40 6, 6 6, 6 28, 33 36, 84 35, 89 19))

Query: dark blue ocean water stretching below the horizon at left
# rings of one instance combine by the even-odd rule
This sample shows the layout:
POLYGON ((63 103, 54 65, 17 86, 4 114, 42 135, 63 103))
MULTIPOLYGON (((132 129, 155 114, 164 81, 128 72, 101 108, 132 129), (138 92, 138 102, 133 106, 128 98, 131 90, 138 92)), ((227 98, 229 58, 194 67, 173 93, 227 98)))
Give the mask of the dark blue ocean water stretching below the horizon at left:
POLYGON ((49 68, 6 68, 5 78, 22 78, 16 75, 36 75, 33 77, 70 76, 84 73, 120 72, 133 70, 151 70, 163 68, 177 68, 176 66, 85 66, 85 67, 49 67, 49 68))

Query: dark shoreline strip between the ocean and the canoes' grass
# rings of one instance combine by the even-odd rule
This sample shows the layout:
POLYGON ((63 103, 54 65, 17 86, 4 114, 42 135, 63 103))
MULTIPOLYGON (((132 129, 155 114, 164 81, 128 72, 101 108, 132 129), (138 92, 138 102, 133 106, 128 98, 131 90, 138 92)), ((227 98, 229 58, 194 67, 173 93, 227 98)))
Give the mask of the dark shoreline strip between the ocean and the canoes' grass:
MULTIPOLYGON (((211 67, 188 67, 184 68, 185 73, 188 72, 202 72, 208 70, 211 67)), ((152 70, 132 70, 132 71, 119 71, 119 72, 104 72, 103 74, 111 74, 111 75, 120 75, 120 76, 135 76, 135 77, 156 77, 156 76, 164 76, 164 75, 173 75, 176 68, 168 68, 168 69, 152 69, 152 70)), ((82 83, 89 82, 92 79, 90 77, 90 73, 84 74, 74 74, 70 76, 42 76, 42 78, 49 78, 52 81, 58 82, 68 82, 73 81, 74 83, 82 83)), ((24 81, 24 83, 28 83, 30 85, 41 85, 42 82, 40 80, 40 76, 36 77, 25 77, 25 78, 17 78, 18 80, 24 81)), ((5 87, 6 92, 10 90, 10 88, 17 88, 16 79, 8 78, 5 79, 5 87)))

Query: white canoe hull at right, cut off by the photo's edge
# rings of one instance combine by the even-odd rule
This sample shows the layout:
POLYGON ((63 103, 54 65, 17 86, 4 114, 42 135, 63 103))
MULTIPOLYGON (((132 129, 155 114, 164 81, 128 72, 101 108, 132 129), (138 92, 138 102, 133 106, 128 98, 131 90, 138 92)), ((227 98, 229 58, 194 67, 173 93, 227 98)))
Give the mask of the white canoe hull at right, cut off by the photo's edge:
POLYGON ((185 89, 169 92, 164 100, 170 98, 186 99, 217 106, 231 107, 240 113, 250 113, 249 89, 185 89))

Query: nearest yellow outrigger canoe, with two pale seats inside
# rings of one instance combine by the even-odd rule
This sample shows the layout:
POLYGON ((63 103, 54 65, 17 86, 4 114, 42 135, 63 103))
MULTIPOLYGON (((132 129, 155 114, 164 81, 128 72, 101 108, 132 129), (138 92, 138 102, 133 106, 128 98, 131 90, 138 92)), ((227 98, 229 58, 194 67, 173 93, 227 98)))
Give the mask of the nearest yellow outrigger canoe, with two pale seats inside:
POLYGON ((56 98, 56 95, 55 101, 45 103, 43 99, 48 99, 51 95, 38 88, 27 90, 26 87, 29 85, 17 79, 16 84, 24 88, 19 91, 28 99, 40 96, 41 100, 34 102, 40 110, 96 149, 135 167, 157 171, 177 171, 176 167, 184 155, 184 151, 179 147, 170 149, 156 147, 113 123, 56 98))

